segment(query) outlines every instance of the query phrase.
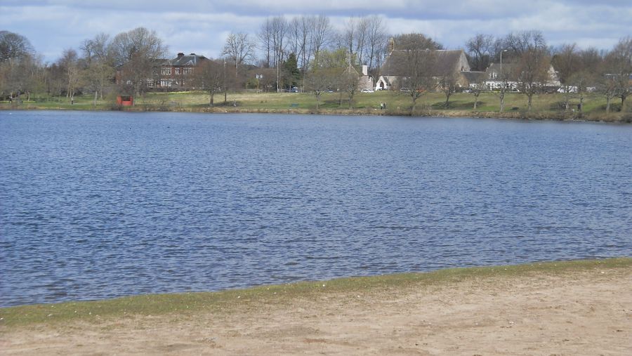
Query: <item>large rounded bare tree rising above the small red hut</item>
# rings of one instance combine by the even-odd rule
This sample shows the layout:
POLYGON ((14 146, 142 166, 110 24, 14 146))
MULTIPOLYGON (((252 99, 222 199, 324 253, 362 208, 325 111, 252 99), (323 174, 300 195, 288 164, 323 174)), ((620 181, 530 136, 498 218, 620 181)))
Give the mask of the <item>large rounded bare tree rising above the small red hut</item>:
POLYGON ((133 93, 142 95, 154 81, 157 73, 154 67, 164 59, 166 46, 155 31, 137 27, 129 32, 121 32, 108 46, 113 64, 119 69, 121 85, 129 81, 133 93))

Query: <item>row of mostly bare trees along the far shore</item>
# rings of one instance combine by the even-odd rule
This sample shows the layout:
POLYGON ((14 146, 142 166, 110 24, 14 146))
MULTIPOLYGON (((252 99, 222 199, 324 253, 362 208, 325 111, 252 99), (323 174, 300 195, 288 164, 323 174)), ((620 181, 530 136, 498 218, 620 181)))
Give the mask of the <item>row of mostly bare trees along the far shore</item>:
MULTIPOLYGON (((351 67, 367 65, 369 74, 377 77, 392 48, 406 48, 415 57, 411 60, 420 67, 408 70, 427 72, 423 55, 414 51, 445 47, 420 33, 389 34, 383 18, 377 15, 350 18, 342 29, 335 29, 323 15, 275 16, 266 18, 254 34, 230 33, 220 56, 196 70, 189 83, 211 95, 244 88, 280 91, 298 86, 315 93, 317 99, 335 86, 346 88, 353 98, 357 88, 346 78, 354 73, 351 67)), ((464 50, 472 71, 483 72, 501 60, 506 63, 500 79, 523 83, 529 106, 532 95, 541 90, 536 83, 546 81, 551 65, 567 107, 571 98, 582 100, 583 93, 598 91, 605 95, 610 110, 614 98, 620 98, 624 107, 630 94, 631 37, 621 39, 610 50, 598 50, 577 44, 548 46, 537 31, 512 32, 504 37, 475 34, 466 41, 464 50)), ((28 98, 31 93, 40 93, 46 98, 72 101, 77 93, 93 93, 95 102, 112 92, 142 95, 150 82, 159 79, 157 67, 168 59, 167 53, 166 44, 155 31, 138 27, 114 37, 98 34, 84 39, 77 48, 65 49, 58 60, 49 63, 41 60, 22 35, 0 31, 0 95, 19 100, 21 95, 28 98), (117 72, 124 82, 115 83, 117 72)), ((409 75, 407 78, 412 80, 409 75)), ((445 80, 437 88, 447 91, 448 98, 454 90, 445 80)), ((504 91, 503 86, 500 95, 504 91)), ((411 95, 414 103, 419 94, 412 91, 411 95)))

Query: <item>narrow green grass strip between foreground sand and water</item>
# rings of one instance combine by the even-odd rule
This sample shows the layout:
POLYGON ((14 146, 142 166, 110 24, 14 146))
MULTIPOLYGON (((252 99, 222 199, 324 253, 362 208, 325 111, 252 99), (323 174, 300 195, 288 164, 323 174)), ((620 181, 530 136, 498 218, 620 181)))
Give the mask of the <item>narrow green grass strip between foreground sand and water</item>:
POLYGON ((150 294, 114 298, 104 301, 67 302, 41 305, 22 305, 0 308, 0 326, 55 324, 70 321, 100 322, 103 319, 132 318, 136 315, 195 315, 199 312, 237 312, 254 303, 287 303, 296 298, 314 298, 328 293, 371 293, 385 289, 423 287, 449 284, 463 280, 489 277, 520 277, 541 273, 560 275, 581 270, 632 268, 632 258, 604 260, 529 263, 524 265, 454 268, 435 272, 351 277, 327 282, 299 282, 250 289, 185 294, 150 294))

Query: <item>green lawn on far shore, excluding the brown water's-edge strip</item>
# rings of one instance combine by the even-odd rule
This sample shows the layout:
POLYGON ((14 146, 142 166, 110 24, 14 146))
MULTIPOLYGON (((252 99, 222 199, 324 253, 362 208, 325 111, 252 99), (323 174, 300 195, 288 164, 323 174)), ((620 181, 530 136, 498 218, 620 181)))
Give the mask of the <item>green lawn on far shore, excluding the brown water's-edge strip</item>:
MULTIPOLYGON (((562 112, 560 108, 564 95, 541 94, 534 95, 534 112, 562 112)), ((291 104, 298 104, 302 110, 315 110, 316 99, 311 93, 228 93, 228 107, 232 103, 237 107, 258 110, 286 110, 291 104)), ((353 99, 354 110, 379 110, 380 103, 387 103, 390 112, 404 112, 412 106, 411 98, 405 93, 396 91, 377 91, 375 93, 357 93, 353 99)), ((571 107, 577 107, 578 99, 571 100, 571 107)), ((617 104, 614 100, 613 104, 617 104)), ((223 94, 215 95, 215 104, 223 106, 223 94)), ((474 96, 470 93, 456 93, 449 100, 449 106, 445 107, 445 95, 441 93, 426 93, 417 100, 416 107, 437 110, 463 110, 466 112, 498 112, 500 100, 494 93, 482 93, 479 97, 479 106, 473 110, 474 96)), ((66 98, 45 98, 32 96, 28 103, 11 104, 0 103, 0 108, 32 108, 32 109, 63 109, 63 110, 112 110, 114 108, 114 95, 104 100, 98 100, 96 107, 93 105, 93 95, 77 95, 74 105, 66 98)), ((136 98, 134 110, 191 110, 199 111, 209 107, 209 93, 175 92, 175 93, 146 93, 136 98)), ((321 98, 320 110, 348 110, 348 97, 339 93, 324 93, 321 98)), ((584 100, 584 112, 603 112, 605 98, 600 94, 588 94, 584 100)), ((616 107, 616 105, 615 105, 616 107)), ((518 108, 518 111, 527 110, 527 96, 521 93, 506 93, 506 111, 518 108)), ((514 111, 517 111, 514 110, 514 111)))

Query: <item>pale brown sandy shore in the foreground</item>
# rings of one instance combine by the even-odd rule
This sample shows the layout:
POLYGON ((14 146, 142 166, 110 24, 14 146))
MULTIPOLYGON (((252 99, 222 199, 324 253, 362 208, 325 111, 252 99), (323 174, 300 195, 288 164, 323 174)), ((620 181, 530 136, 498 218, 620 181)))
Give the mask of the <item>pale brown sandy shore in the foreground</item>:
POLYGON ((631 355, 631 350, 629 267, 325 292, 283 303, 244 298, 221 312, 3 327, 0 334, 5 355, 631 355))

